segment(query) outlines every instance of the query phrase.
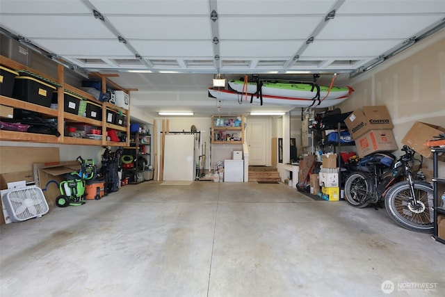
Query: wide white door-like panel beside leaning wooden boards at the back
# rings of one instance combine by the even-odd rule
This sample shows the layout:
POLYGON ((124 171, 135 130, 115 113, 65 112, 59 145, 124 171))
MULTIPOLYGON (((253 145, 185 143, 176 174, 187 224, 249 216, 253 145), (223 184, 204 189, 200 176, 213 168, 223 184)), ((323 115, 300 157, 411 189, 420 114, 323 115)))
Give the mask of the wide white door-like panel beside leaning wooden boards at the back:
POLYGON ((165 135, 163 180, 191 180, 194 178, 193 134, 165 135))

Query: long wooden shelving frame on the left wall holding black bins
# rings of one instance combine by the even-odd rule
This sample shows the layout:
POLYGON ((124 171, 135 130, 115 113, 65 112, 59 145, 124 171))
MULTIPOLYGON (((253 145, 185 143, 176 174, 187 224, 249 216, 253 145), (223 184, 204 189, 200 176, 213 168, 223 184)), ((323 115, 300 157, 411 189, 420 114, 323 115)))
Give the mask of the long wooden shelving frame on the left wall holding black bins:
MULTIPOLYGON (((130 127, 130 114, 129 110, 122 109, 118 106, 115 106, 113 104, 110 104, 108 102, 99 102, 95 97, 92 97, 89 93, 86 93, 83 90, 80 90, 79 88, 75 88, 74 86, 70 86, 64 82, 64 69, 62 65, 58 65, 58 79, 54 79, 52 77, 49 77, 47 74, 43 74, 42 72, 39 72, 38 70, 34 70, 31 67, 27 67, 25 65, 22 65, 21 63, 17 63, 13 60, 10 60, 9 58, 6 58, 5 56, 0 56, 0 64, 5 65, 6 67, 9 67, 13 70, 29 70, 35 74, 40 75, 41 77, 46 77, 47 79, 50 79, 51 81, 56 81, 60 84, 60 88, 58 88, 58 110, 50 109, 45 106, 40 106, 38 104, 32 104, 29 102, 24 102, 19 99, 14 99, 6 96, 0 96, 0 104, 5 106, 10 106, 15 109, 25 109, 29 111, 34 111, 36 113, 39 113, 42 118, 56 118, 58 122, 58 131, 61 134, 59 137, 56 137, 54 135, 47 135, 47 134, 35 134, 35 133, 26 133, 26 132, 18 132, 18 131, 6 131, 6 130, 0 130, 0 140, 1 141, 26 141, 26 142, 34 142, 34 143, 57 143, 57 144, 66 144, 66 145, 99 145, 99 146, 128 146, 129 145, 129 127, 130 127), (103 115, 106 114, 106 109, 111 109, 115 111, 116 113, 120 113, 122 115, 125 115, 126 118, 126 127, 114 125, 112 123, 106 122, 106 118, 102 116, 102 121, 100 120, 94 120, 91 118, 86 118, 80 115, 74 115, 72 113, 66 113, 64 109, 64 90, 69 90, 72 93, 76 93, 81 95, 82 97, 86 98, 90 102, 94 102, 96 104, 102 105, 102 112, 103 115), (96 140, 96 139, 88 139, 88 138, 74 138, 70 136, 64 135, 65 130, 65 124, 67 123, 81 123, 86 125, 92 125, 97 127, 102 127, 103 131, 103 137, 102 140, 96 140), (109 129, 114 129, 116 131, 123 132, 127 135, 125 142, 113 142, 113 141, 107 141, 106 140, 106 131, 109 129)), ((101 74, 95 73, 95 76, 100 76, 101 74)), ((108 79, 106 79, 106 76, 102 77, 102 81, 106 81, 109 83, 108 79)), ((103 83, 103 86, 105 88, 106 84, 103 83)), ((123 90, 119 86, 115 85, 115 83, 112 83, 113 88, 116 90, 123 90)), ((128 90, 126 90, 128 91, 128 90)))

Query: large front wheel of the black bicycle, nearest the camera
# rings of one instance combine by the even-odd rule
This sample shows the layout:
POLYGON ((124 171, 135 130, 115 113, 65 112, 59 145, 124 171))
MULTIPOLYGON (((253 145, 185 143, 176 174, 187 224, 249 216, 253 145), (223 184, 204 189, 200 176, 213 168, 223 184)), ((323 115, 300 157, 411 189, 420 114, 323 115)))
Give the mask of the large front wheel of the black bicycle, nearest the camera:
POLYGON ((385 207, 389 216, 402 227, 415 232, 432 233, 433 191, 428 182, 414 181, 417 204, 412 204, 410 183, 399 182, 385 196, 385 207))

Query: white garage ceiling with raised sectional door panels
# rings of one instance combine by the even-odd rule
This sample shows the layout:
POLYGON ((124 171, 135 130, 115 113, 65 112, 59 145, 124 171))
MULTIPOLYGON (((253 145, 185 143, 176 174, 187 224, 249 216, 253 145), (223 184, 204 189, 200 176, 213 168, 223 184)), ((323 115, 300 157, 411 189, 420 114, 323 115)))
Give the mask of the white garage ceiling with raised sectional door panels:
MULTIPOLYGON (((119 73, 113 81, 137 88, 138 102, 138 93, 207 97, 218 72, 329 81, 339 73, 347 83, 444 22, 443 0, 0 1, 5 31, 81 71, 119 73)), ((175 104, 207 111, 188 97, 175 104)), ((160 99, 144 101, 163 109, 160 99)))

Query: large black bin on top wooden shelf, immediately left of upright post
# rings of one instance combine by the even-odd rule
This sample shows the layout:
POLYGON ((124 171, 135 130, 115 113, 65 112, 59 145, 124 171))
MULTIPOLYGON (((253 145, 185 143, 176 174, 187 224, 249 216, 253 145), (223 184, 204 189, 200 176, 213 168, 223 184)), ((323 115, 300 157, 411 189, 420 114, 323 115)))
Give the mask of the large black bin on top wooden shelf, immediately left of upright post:
POLYGON ((56 87, 33 77, 15 77, 13 98, 49 107, 56 87))

